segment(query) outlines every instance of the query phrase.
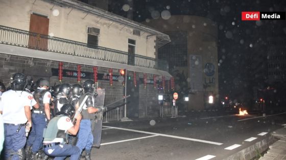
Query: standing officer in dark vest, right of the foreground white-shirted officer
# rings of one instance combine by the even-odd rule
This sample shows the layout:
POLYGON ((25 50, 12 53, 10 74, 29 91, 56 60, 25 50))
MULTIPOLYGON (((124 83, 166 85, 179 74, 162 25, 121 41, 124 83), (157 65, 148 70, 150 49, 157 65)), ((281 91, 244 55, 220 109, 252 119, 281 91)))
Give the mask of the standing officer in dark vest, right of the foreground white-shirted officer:
MULTIPOLYGON (((50 84, 49 81, 41 79, 39 81, 39 87, 34 91, 34 98, 37 101, 39 108, 34 108, 32 113, 32 123, 33 128, 27 142, 27 148, 30 148, 31 145, 31 155, 28 159, 35 159, 38 156, 41 156, 38 151, 41 148, 43 140, 43 130, 46 128, 47 122, 51 120, 50 113, 50 101, 51 93, 49 90, 50 84)), ((27 151, 26 151, 27 152, 27 151)))

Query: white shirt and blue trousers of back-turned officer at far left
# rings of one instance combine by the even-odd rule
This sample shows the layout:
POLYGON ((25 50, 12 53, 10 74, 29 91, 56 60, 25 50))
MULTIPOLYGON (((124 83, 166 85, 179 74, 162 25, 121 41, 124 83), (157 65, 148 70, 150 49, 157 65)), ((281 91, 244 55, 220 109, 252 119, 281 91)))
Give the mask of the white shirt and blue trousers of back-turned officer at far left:
POLYGON ((25 106, 32 109, 33 96, 20 90, 8 90, 1 95, 0 110, 5 131, 5 158, 22 159, 26 144, 25 123, 28 121, 25 106))

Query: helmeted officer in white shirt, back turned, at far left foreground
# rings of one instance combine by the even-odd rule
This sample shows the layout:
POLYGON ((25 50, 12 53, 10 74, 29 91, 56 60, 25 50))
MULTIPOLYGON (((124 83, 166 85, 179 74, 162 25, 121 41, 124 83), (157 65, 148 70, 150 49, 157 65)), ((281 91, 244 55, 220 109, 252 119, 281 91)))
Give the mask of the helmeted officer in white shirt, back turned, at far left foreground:
POLYGON ((24 91, 27 76, 16 73, 12 77, 11 89, 1 96, 0 112, 3 115, 5 130, 5 159, 25 159, 26 130, 32 126, 31 101, 33 96, 24 91))

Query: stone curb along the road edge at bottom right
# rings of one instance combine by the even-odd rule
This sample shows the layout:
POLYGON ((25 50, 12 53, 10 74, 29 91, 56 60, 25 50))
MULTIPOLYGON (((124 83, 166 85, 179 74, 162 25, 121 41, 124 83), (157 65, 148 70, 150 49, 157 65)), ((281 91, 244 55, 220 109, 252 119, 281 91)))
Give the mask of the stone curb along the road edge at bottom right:
POLYGON ((268 149, 268 147, 276 142, 277 139, 275 139, 272 135, 269 136, 268 138, 261 140, 259 142, 256 142, 255 144, 239 151, 236 152, 227 158, 224 158, 223 160, 249 160, 257 156, 257 153, 262 153, 268 149))

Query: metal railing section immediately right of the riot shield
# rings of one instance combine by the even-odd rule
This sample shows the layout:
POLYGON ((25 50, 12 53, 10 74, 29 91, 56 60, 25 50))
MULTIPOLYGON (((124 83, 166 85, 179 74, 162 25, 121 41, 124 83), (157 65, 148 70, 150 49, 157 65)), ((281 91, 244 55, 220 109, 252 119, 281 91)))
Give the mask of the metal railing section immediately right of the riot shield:
POLYGON ((106 109, 106 112, 103 115, 103 121, 108 122, 108 121, 119 121, 123 117, 123 107, 117 107, 112 110, 106 109))

